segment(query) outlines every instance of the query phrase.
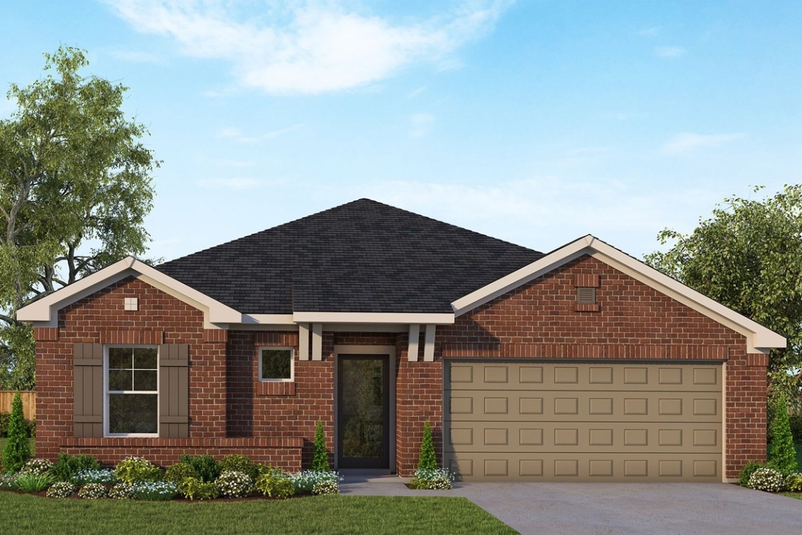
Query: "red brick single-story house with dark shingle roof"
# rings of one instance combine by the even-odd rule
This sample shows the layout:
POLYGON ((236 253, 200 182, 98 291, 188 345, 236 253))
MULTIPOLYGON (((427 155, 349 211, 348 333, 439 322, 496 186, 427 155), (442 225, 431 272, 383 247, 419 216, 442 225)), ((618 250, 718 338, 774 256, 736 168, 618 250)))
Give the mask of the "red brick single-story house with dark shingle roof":
POLYGON ((466 480, 733 480, 780 335, 592 236, 539 253, 362 199, 22 308, 37 452, 466 480))

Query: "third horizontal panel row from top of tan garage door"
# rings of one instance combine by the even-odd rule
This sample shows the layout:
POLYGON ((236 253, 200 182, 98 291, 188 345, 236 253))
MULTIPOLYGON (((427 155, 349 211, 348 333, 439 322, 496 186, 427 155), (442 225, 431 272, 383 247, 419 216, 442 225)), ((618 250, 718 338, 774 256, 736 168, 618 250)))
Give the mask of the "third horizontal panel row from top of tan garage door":
POLYGON ((444 425, 446 452, 721 452, 718 423, 457 422, 444 425))

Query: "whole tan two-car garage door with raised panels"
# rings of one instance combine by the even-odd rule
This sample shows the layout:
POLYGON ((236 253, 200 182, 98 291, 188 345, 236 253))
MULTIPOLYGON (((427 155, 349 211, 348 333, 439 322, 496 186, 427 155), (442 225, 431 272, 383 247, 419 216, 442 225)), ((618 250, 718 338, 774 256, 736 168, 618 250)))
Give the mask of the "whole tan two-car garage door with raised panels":
POLYGON ((720 481, 721 366, 446 361, 464 480, 720 481))

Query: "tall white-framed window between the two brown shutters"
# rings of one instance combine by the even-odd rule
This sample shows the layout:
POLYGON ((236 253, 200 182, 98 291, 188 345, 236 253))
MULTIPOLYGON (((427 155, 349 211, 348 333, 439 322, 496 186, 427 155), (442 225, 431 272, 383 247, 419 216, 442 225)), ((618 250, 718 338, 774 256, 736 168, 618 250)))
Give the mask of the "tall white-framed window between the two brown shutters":
POLYGON ((105 350, 105 435, 159 436, 159 349, 108 346, 105 350))

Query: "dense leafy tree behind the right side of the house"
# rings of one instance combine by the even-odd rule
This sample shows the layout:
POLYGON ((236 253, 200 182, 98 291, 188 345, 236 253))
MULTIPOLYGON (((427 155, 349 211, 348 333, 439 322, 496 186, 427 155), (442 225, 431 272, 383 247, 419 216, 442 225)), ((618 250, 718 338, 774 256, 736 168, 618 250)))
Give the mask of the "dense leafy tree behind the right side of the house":
POLYGON ((802 184, 763 200, 729 197, 692 233, 664 229, 658 240, 673 245, 647 255, 648 264, 788 339, 772 351, 769 379, 793 395, 802 363, 802 184))

